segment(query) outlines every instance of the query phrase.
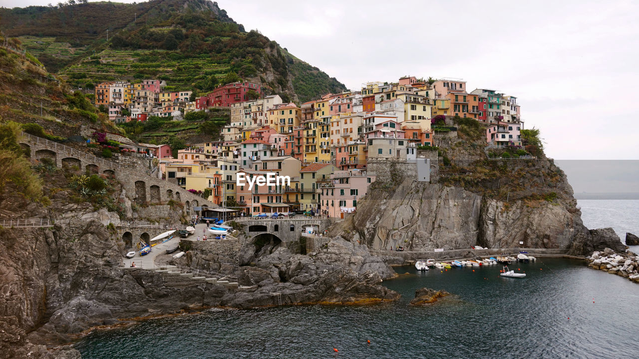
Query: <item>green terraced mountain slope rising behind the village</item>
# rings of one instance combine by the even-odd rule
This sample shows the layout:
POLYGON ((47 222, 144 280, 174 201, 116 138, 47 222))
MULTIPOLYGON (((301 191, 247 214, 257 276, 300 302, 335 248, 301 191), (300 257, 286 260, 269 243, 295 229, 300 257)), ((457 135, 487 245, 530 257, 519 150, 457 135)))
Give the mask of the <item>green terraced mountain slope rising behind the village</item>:
POLYGON ((236 73, 285 100, 346 89, 207 0, 29 6, 0 9, 0 19, 7 36, 73 86, 158 77, 205 93, 236 73))

